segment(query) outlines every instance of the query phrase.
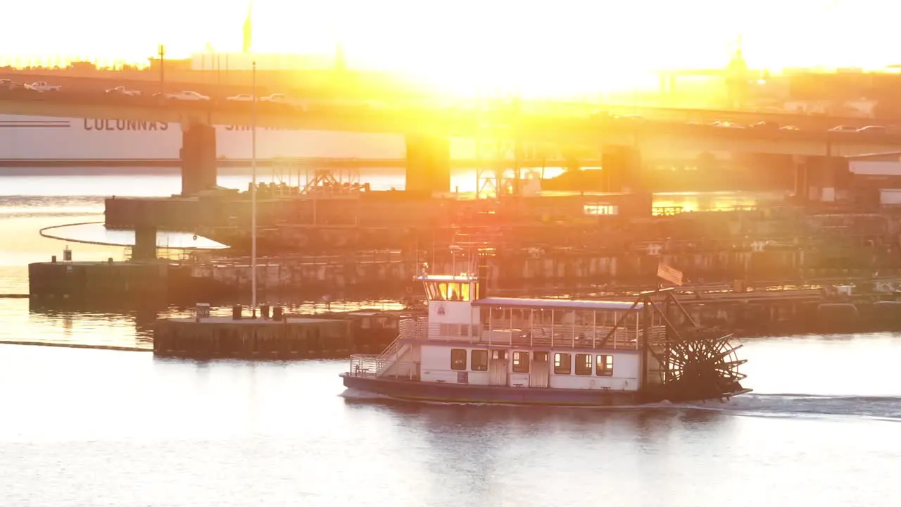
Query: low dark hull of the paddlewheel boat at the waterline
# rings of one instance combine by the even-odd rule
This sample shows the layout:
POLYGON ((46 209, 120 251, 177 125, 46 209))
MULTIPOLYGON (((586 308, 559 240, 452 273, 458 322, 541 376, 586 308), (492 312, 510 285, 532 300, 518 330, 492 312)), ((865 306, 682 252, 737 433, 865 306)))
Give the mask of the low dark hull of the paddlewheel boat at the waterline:
MULTIPOLYGON (((405 401, 487 403, 578 407, 627 407, 664 401, 660 397, 630 391, 549 389, 459 383, 428 383, 343 373, 344 387, 405 401)), ((720 399, 751 392, 742 389, 720 399)), ((702 401, 702 400, 698 400, 702 401)))

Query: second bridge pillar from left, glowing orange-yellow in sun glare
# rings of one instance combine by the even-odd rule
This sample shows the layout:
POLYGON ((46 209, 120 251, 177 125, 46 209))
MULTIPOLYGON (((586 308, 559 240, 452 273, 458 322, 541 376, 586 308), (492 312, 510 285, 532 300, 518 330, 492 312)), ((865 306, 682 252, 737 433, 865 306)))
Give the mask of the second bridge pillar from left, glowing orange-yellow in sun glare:
POLYGON ((441 137, 406 136, 406 189, 451 191, 451 142, 441 137))

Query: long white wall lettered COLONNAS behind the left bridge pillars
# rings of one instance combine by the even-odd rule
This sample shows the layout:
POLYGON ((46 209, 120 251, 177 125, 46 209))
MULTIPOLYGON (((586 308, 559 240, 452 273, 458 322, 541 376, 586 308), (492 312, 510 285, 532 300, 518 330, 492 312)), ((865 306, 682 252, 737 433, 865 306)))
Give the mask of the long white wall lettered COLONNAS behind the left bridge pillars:
MULTIPOLYGON (((219 159, 249 160, 249 127, 216 126, 219 159)), ((99 118, 0 115, 0 160, 128 161, 174 160, 181 149, 181 124, 99 118)), ((257 157, 332 159, 405 158, 405 139, 396 134, 278 130, 257 132, 257 157)))

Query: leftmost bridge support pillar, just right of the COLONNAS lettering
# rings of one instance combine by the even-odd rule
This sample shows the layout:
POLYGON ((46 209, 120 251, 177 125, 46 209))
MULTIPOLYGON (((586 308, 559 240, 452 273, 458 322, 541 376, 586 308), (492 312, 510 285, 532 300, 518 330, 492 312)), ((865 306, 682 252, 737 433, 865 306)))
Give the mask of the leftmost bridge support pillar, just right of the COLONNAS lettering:
POLYGON ((196 120, 181 127, 181 194, 216 186, 216 129, 196 120))

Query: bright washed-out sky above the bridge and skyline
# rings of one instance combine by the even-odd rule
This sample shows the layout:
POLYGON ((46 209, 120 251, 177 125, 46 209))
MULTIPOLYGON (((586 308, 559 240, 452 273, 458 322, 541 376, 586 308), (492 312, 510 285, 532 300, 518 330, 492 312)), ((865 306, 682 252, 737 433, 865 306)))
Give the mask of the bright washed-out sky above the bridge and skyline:
MULTIPOLYGON (((146 61, 239 51, 248 0, 9 2, 0 58, 146 61), (13 21, 14 23, 8 23, 13 21)), ((723 68, 742 36, 753 68, 882 67, 901 3, 887 0, 255 0, 259 52, 329 52, 351 67, 467 79, 625 79, 723 68)))

